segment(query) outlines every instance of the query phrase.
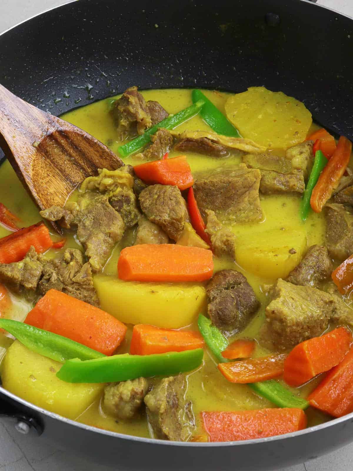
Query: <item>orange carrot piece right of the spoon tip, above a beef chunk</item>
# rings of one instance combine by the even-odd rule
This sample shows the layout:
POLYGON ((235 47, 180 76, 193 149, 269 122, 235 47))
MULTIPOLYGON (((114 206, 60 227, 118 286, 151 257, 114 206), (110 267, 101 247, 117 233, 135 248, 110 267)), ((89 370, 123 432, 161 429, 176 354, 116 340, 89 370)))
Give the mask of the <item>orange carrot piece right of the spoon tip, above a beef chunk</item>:
POLYGON ((180 190, 193 186, 193 175, 185 155, 136 165, 134 171, 146 183, 176 185, 180 190))

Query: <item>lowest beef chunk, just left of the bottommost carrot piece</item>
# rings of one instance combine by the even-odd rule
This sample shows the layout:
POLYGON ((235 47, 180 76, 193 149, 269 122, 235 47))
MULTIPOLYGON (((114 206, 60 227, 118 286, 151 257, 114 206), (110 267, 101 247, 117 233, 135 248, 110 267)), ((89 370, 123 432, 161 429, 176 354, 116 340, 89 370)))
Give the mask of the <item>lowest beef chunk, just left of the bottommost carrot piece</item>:
POLYGON ((185 400, 186 387, 183 375, 169 376, 145 396, 154 438, 186 441, 190 437, 195 419, 191 402, 185 400))

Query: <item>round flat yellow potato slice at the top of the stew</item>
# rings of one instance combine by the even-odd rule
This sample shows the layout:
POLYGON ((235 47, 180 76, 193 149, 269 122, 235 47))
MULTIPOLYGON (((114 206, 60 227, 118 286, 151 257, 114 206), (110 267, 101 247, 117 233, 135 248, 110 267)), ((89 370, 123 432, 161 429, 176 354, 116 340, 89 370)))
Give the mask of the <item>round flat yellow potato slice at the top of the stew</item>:
POLYGON ((271 148, 287 149, 303 142, 312 124, 304 103, 265 87, 232 95, 225 112, 243 138, 271 148))

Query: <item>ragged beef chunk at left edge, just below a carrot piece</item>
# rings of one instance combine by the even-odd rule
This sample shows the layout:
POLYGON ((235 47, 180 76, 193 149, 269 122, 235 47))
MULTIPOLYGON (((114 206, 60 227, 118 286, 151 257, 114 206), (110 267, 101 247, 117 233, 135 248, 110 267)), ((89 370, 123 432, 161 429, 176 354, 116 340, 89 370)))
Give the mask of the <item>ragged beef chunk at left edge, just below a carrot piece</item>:
POLYGON ((23 260, 14 263, 0 263, 0 282, 16 292, 24 289, 34 292, 40 280, 42 264, 35 248, 31 246, 23 260))

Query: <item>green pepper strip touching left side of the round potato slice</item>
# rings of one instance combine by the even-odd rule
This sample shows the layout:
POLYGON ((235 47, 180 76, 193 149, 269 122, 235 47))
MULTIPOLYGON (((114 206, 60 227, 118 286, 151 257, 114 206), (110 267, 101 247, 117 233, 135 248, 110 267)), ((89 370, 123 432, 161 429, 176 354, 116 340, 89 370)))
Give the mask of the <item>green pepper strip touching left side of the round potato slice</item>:
POLYGON ((193 103, 197 103, 199 100, 203 100, 205 104, 201 108, 201 116, 205 122, 213 129, 217 134, 223 136, 230 136, 232 138, 241 138, 239 131, 234 128, 233 124, 227 120, 225 115, 219 111, 201 90, 192 91, 193 103))

